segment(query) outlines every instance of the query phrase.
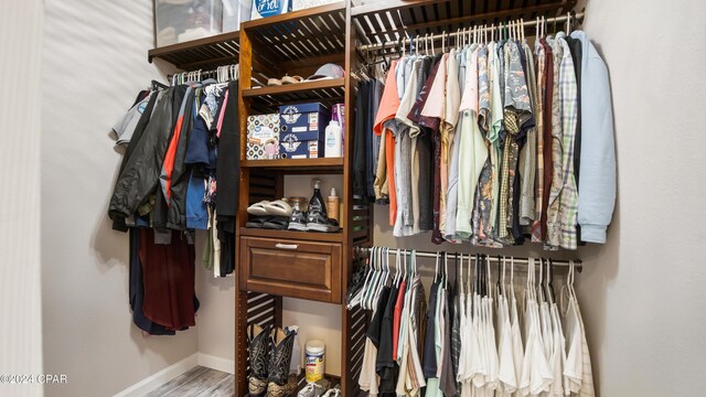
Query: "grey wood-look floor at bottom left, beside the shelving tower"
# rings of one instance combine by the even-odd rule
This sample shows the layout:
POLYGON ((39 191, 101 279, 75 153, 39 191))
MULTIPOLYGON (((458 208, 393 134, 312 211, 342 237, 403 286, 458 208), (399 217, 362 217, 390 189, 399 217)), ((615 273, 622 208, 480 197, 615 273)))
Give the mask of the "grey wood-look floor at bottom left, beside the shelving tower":
POLYGON ((148 397, 233 397, 235 396, 233 375, 196 366, 183 375, 160 386, 148 397))

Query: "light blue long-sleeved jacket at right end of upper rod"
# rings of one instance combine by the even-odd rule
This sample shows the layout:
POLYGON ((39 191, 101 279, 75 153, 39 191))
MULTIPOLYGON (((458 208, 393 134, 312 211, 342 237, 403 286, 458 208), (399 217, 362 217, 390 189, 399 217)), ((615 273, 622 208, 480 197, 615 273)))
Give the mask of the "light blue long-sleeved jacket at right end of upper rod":
POLYGON ((578 224, 581 240, 606 243, 606 228, 616 207, 616 141, 606 63, 582 31, 581 41, 581 164, 578 224))

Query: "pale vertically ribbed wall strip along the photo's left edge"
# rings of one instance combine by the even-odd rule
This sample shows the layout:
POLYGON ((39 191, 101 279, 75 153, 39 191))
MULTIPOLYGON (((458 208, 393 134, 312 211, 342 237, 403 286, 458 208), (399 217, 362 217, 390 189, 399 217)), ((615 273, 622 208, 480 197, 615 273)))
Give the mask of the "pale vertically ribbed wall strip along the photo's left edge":
MULTIPOLYGON (((40 374, 40 0, 2 2, 0 49, 0 375, 40 374)), ((0 396, 42 395, 36 384, 0 384, 0 396)))

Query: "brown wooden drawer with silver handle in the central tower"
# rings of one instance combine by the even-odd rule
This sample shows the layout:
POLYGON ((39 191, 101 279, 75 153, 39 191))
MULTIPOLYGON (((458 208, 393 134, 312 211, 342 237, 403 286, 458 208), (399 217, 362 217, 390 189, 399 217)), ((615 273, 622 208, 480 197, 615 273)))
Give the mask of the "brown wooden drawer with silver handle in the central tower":
POLYGON ((341 244, 240 237, 244 290, 341 303, 341 244))

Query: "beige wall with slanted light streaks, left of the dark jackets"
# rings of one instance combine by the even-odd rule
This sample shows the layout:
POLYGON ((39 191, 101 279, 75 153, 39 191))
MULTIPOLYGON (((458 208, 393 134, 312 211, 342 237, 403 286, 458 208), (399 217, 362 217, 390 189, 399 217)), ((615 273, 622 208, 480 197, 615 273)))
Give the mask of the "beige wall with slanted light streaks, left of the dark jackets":
POLYGON ((121 160, 108 131, 137 92, 159 77, 147 63, 152 1, 44 4, 44 371, 69 379, 45 391, 108 396, 197 350, 195 330, 145 339, 132 325, 128 236, 113 232, 106 215, 121 160))

